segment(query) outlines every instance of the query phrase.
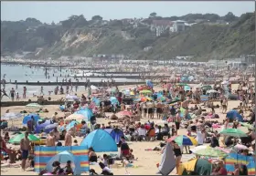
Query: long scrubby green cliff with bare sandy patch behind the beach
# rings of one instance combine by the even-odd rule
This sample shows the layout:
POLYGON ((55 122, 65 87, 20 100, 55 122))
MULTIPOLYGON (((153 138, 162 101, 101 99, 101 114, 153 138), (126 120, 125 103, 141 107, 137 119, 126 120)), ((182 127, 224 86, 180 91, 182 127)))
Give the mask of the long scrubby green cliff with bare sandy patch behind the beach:
POLYGON ((61 24, 46 25, 34 18, 1 21, 2 55, 28 51, 34 57, 123 54, 141 59, 193 56, 208 60, 255 53, 254 13, 244 14, 229 25, 197 24, 159 37, 152 34, 150 25, 133 27, 121 20, 102 23, 72 16, 61 24), (150 49, 145 51, 144 47, 150 49))

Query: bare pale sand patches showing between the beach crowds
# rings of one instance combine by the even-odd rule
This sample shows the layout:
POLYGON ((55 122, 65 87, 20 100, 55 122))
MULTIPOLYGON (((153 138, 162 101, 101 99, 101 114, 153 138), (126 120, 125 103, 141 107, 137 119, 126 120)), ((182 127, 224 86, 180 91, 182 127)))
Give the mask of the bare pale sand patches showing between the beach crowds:
MULTIPOLYGON (((125 86, 124 88, 133 88, 134 86, 125 86)), ((120 88, 122 89, 122 88, 120 88)), ((78 93, 78 95, 80 96, 81 93, 84 92, 80 92, 78 93)), ((51 96, 51 97, 55 97, 55 96, 51 96)), ((58 96, 59 97, 59 96, 58 96)), ((63 97, 63 96, 62 96, 63 97)), ((219 103, 219 102, 218 102, 219 103)), ((216 103, 216 104, 218 104, 216 103)), ((240 101, 238 100, 232 100, 229 101, 229 107, 228 107, 228 111, 230 109, 236 108, 238 107, 240 104, 240 101)), ((190 105, 190 106, 195 106, 195 105, 190 105)), ((10 112, 20 112, 21 110, 26 109, 26 107, 1 107, 1 116, 5 114, 5 111, 9 109, 10 112)), ((57 105, 48 105, 48 106, 44 106, 44 109, 48 109, 49 112, 48 113, 40 113, 41 117, 48 117, 50 118, 54 112, 58 112, 58 116, 59 117, 63 117, 64 113, 59 111, 59 106, 57 105)), ((206 109, 206 108, 204 108, 206 109)), ((27 110, 27 109, 26 109, 27 110)), ((219 120, 219 122, 223 121, 223 119, 225 119, 226 115, 221 113, 220 109, 215 109, 216 113, 219 114, 219 119, 214 119, 214 120, 219 120)), ((207 109, 207 111, 209 111, 209 109, 207 109)), ((32 111, 31 111, 32 112, 32 111)), ((245 114, 248 115, 248 114, 245 114)), ((155 116, 156 118, 156 116, 155 116)), ((147 121, 148 119, 142 119, 142 122, 147 121)), ((159 119, 154 119, 154 121, 158 121, 159 119)), ((110 119, 97 119, 97 123, 105 123, 107 124, 107 122, 111 121, 110 119)), ((22 123, 22 119, 15 119, 13 120, 13 125, 21 127, 21 123, 22 123)), ((12 124, 12 122, 10 121, 9 124, 12 124)), ((245 130, 247 132, 247 129, 242 128, 243 130, 245 130)), ((178 134, 187 134, 187 130, 186 129, 179 129, 178 130, 178 134)), ((82 140, 81 138, 78 138, 78 141, 80 143, 80 141, 82 140)), ((74 140, 74 139, 73 139, 74 140)), ((128 144, 130 145, 130 148, 133 149, 133 155, 135 158, 138 158, 138 160, 135 160, 133 162, 133 165, 135 166, 134 168, 128 168, 127 171, 133 175, 133 174, 138 174, 138 175, 148 175, 148 174, 155 174, 158 169, 156 167, 157 163, 161 162, 161 154, 160 151, 153 151, 153 150, 146 150, 146 149, 153 149, 155 148, 155 146, 158 146, 160 143, 160 141, 149 141, 149 142, 131 142, 128 141, 128 144)), ((206 144, 208 145, 208 144, 206 144)), ((18 146, 16 146, 18 147, 18 146)), ((191 147, 190 149, 193 149, 194 147, 191 147)), ((103 153, 97 153, 98 155, 102 156, 103 153)), ((193 154, 184 154, 182 157, 182 161, 187 161, 191 158, 193 158, 194 155, 193 154)), ((115 164, 112 166, 112 171, 114 173, 114 175, 123 175, 126 173, 125 168, 123 168, 123 166, 121 165, 120 161, 118 161, 118 164, 115 164)), ((21 169, 19 168, 18 164, 17 166, 1 166, 1 173, 5 174, 5 175, 37 175, 36 172, 34 171, 21 171, 21 169), (16 168, 17 167, 17 168, 16 168)), ((91 165, 92 169, 95 169, 96 172, 101 173, 101 169, 99 166, 97 165, 91 165)), ((172 171, 171 174, 175 174, 176 170, 172 171)), ((88 173, 85 173, 88 174, 88 173)), ((127 173, 128 174, 128 173, 127 173)))

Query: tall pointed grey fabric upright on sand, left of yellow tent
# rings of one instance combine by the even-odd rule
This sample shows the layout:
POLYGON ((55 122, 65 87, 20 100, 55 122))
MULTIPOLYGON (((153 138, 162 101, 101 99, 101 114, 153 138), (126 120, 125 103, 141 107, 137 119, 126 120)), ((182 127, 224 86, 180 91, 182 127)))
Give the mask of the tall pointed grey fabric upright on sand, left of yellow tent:
POLYGON ((173 147, 170 143, 166 144, 165 151, 162 155, 162 161, 159 166, 159 172, 162 175, 169 175, 176 167, 176 159, 173 151, 173 147))

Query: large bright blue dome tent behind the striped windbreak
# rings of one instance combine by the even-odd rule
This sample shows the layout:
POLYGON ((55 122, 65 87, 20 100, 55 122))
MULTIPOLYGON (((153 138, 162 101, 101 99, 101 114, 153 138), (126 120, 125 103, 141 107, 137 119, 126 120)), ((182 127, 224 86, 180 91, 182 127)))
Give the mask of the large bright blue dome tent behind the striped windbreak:
POLYGON ((103 129, 93 130, 81 141, 80 146, 87 146, 88 148, 92 147, 96 152, 118 151, 112 136, 103 129))

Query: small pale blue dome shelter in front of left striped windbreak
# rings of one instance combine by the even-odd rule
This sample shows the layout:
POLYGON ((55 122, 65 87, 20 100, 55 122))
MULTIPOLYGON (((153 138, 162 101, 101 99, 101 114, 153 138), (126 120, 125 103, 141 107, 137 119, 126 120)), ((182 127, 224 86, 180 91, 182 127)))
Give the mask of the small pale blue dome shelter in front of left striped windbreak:
POLYGON ((80 160, 77 160, 77 158, 75 158, 75 156, 67 150, 62 151, 59 154, 52 157, 48 161, 46 170, 49 172, 53 171, 52 163, 54 161, 59 161, 60 167, 64 168, 67 165, 68 160, 71 161, 71 167, 72 167, 72 170, 74 171, 74 175, 80 175, 80 160))

